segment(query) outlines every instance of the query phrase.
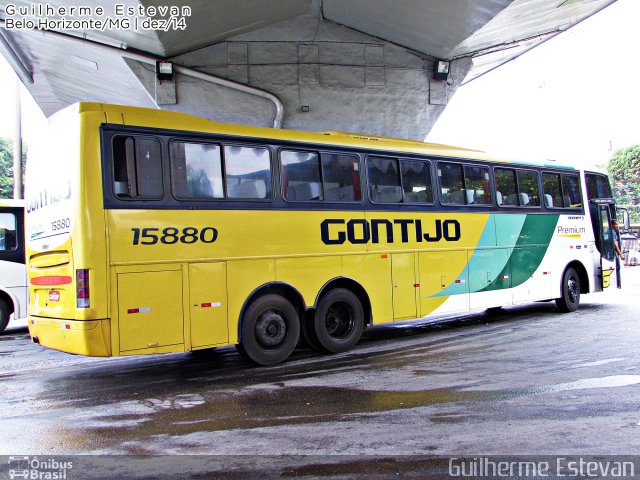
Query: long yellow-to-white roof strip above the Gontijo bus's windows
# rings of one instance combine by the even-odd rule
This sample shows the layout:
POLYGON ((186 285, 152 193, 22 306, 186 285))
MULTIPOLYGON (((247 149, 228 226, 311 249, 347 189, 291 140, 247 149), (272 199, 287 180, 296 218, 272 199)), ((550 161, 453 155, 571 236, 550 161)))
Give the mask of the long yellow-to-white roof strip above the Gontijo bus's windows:
POLYGON ((573 167, 556 165, 555 163, 543 164, 539 162, 513 162, 510 160, 492 157, 482 150, 474 150, 465 147, 361 133, 337 131, 307 132, 302 130, 236 125, 215 122, 195 115, 170 110, 155 110, 104 103, 81 102, 68 108, 77 109, 78 113, 102 111, 105 112, 107 121, 109 121, 109 118, 116 118, 117 120, 114 123, 122 123, 124 121, 125 125, 131 126, 217 133, 222 135, 237 135, 247 138, 263 138, 288 142, 293 141, 300 143, 336 145, 341 147, 356 147, 396 153, 415 153, 444 158, 466 158, 471 160, 499 161, 535 166, 548 166, 551 168, 573 169, 573 167))

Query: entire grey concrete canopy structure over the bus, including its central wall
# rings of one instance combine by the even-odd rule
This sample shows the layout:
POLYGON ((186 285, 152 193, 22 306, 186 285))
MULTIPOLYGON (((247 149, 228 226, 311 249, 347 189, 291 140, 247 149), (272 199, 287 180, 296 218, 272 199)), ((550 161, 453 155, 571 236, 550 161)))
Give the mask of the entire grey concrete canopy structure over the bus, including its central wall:
POLYGON ((465 78, 613 1, 49 0, 53 11, 43 12, 33 10, 41 4, 0 0, 0 50, 46 115, 100 101, 273 125, 277 106, 236 88, 246 85, 278 97, 287 128, 422 139, 465 78), (186 28, 15 28, 17 20, 86 20, 87 13, 140 22, 177 13, 186 28), (159 58, 185 68, 159 82, 159 58), (446 81, 433 79, 435 59, 452 61, 446 81))

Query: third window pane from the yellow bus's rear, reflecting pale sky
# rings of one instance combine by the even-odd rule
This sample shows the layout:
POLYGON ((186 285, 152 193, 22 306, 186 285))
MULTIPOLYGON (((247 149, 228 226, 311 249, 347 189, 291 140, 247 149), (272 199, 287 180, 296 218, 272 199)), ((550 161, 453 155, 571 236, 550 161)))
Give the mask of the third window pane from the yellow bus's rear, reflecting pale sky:
POLYGON ((272 197, 271 159, 268 149, 225 145, 224 173, 227 198, 272 197))

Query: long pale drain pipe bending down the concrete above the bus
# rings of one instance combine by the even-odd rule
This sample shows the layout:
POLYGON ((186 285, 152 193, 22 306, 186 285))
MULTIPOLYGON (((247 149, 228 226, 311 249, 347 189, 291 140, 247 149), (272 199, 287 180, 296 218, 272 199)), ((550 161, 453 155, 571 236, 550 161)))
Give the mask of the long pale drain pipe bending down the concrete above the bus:
MULTIPOLYGON (((0 19, 0 27, 5 26, 5 21, 0 19)), ((122 57, 129 58, 131 60, 136 60, 138 62, 147 63, 153 65, 155 68, 156 61, 164 60, 164 58, 157 57, 154 55, 150 55, 147 53, 138 53, 131 50, 127 50, 126 44, 120 44, 120 46, 112 46, 97 40, 90 40, 86 37, 77 37, 75 35, 70 35, 67 33, 56 32, 54 30, 39 30, 35 31, 35 33, 42 33, 45 36, 52 36, 56 38, 63 38, 67 41, 71 41, 74 43, 79 43, 85 46, 91 46, 94 48, 98 48, 100 50, 105 50, 113 53, 117 53, 122 57)), ((22 63, 22 62, 20 62, 22 63)), ((262 90, 260 88, 251 87, 249 85, 245 85, 244 83, 234 82, 233 80, 228 80, 226 78, 217 77, 215 75, 211 75, 209 73, 201 72, 200 70, 196 70, 194 68, 185 67, 182 65, 177 65, 174 63, 173 70, 176 73, 180 73, 182 75, 187 75, 189 77, 197 78, 199 80, 204 80, 205 82, 214 83, 216 85, 221 85, 223 87, 231 88, 233 90, 237 90, 240 92, 248 93, 250 95, 254 95, 257 97, 265 98, 271 101, 276 108, 276 114, 273 119, 273 128, 281 128, 282 127, 282 118, 284 116, 284 106, 282 101, 273 93, 268 92, 266 90, 262 90)))

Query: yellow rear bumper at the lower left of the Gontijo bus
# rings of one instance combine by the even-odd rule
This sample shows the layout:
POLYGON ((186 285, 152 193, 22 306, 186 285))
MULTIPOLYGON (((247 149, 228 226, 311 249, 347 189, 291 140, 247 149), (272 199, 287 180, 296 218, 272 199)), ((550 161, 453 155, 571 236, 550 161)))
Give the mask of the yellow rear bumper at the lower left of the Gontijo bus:
POLYGON ((43 347, 91 357, 111 356, 111 322, 29 316, 31 339, 43 347))

